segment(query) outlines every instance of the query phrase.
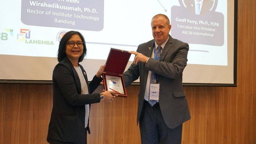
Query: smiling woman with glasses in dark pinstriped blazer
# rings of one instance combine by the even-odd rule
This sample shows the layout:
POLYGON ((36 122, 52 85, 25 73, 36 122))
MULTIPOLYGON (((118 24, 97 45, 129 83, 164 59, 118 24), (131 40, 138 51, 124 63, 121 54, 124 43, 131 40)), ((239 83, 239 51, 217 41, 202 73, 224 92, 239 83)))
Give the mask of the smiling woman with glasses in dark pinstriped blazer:
POLYGON ((58 61, 52 75, 53 107, 48 128, 50 144, 86 144, 90 104, 112 102, 112 91, 91 94, 102 81, 105 66, 88 83, 84 68, 79 64, 86 55, 84 37, 80 32, 67 32, 60 40, 58 61))

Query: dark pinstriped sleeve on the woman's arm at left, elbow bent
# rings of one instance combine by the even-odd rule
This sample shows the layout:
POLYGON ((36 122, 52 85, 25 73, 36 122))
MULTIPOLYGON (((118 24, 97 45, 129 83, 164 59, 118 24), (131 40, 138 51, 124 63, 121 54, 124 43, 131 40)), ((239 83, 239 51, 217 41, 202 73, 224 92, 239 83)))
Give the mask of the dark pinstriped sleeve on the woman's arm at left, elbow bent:
MULTIPOLYGON (((78 94, 72 69, 65 64, 57 64, 53 71, 53 85, 72 106, 100 102, 100 94, 78 94)), ((57 91, 57 90, 56 90, 57 91)))

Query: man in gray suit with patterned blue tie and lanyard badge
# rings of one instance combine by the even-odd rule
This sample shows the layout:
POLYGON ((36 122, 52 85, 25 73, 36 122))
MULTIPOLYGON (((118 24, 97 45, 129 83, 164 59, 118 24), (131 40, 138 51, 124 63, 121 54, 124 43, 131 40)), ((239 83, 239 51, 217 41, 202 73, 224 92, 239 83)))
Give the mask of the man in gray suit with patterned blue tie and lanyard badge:
POLYGON ((127 87, 140 77, 137 122, 142 144, 180 144, 182 123, 191 118, 182 89, 189 48, 169 35, 171 25, 164 14, 152 18, 151 28, 154 40, 140 44, 137 52, 130 52, 135 58, 123 74, 124 82, 127 87), (160 60, 159 55, 154 55, 158 50, 160 60), (156 104, 151 106, 149 99, 156 104))

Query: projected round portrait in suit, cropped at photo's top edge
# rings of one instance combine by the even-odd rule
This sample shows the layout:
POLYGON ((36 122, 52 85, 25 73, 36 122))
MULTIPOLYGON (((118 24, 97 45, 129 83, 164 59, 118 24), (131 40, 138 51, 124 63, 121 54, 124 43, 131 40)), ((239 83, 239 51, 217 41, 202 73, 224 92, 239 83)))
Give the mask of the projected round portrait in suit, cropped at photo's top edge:
POLYGON ((194 14, 205 14, 210 11, 213 5, 212 0, 184 0, 184 3, 194 14))

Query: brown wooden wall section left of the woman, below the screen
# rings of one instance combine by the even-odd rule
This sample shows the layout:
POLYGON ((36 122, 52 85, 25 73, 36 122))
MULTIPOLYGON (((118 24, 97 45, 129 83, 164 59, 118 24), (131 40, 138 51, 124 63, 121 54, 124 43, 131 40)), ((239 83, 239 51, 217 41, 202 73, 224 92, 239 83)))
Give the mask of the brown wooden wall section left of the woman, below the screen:
POLYGON ((51 85, 0 84, 0 144, 46 143, 51 85))

